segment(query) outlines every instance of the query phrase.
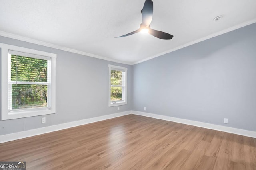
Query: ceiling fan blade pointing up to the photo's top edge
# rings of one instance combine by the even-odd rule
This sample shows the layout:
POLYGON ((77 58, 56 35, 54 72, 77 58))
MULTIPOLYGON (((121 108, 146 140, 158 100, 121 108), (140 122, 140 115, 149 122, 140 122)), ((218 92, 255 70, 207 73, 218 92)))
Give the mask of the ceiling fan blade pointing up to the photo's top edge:
POLYGON ((149 26, 153 17, 153 1, 146 0, 142 9, 142 25, 149 26))

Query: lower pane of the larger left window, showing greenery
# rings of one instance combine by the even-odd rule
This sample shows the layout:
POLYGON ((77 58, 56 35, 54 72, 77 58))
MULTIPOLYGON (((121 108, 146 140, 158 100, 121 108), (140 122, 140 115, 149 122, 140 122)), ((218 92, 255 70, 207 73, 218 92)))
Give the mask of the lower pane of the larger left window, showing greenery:
POLYGON ((12 109, 47 107, 47 85, 12 84, 12 109))

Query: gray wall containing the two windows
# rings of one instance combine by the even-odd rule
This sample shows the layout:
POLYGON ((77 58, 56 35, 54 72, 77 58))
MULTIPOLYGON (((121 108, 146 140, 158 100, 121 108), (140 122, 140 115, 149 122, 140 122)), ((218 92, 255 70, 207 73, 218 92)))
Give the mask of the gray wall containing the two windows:
POLYGON ((56 114, 0 121, 0 135, 132 110, 132 66, 1 36, 0 43, 57 54, 56 114), (108 64, 128 68, 128 102, 119 111, 108 107, 108 64))

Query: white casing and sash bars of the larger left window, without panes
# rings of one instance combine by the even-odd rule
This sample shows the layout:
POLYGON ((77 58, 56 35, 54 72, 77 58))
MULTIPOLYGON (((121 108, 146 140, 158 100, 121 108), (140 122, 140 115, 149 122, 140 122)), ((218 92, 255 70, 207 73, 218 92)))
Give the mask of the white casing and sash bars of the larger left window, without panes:
POLYGON ((1 120, 54 114, 56 111, 56 57, 54 53, 0 43, 1 48, 1 120), (11 55, 47 60, 47 82, 11 81, 11 55), (19 83, 18 83, 19 82, 19 83), (39 84, 47 86, 47 107, 12 109, 12 84, 39 84))

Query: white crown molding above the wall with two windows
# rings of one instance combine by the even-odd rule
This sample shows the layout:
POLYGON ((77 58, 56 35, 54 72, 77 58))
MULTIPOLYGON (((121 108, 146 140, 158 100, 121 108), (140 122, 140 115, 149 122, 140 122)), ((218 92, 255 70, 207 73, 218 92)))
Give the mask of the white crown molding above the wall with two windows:
POLYGON ((126 62, 126 61, 110 59, 108 57, 103 57, 103 56, 95 55, 95 54, 92 54, 92 53, 86 53, 84 51, 79 51, 79 50, 70 49, 70 48, 67 48, 67 47, 62 47, 60 45, 46 43, 44 41, 39 41, 39 40, 36 40, 36 39, 27 38, 27 37, 23 37, 23 36, 20 36, 20 35, 7 33, 7 32, 4 32, 4 31, 0 31, 0 36, 16 39, 16 40, 20 40, 20 41, 25 41, 25 42, 33 43, 33 44, 37 44, 37 45, 43 45, 43 46, 46 46, 46 47, 51 47, 51 48, 54 48, 54 49, 68 51, 68 52, 71 52, 71 53, 85 55, 85 56, 88 56, 88 57, 94 57, 94 58, 97 58, 97 59, 102 59, 102 60, 112 61, 112 62, 116 62, 116 63, 132 65, 132 63, 129 63, 129 62, 126 62))

